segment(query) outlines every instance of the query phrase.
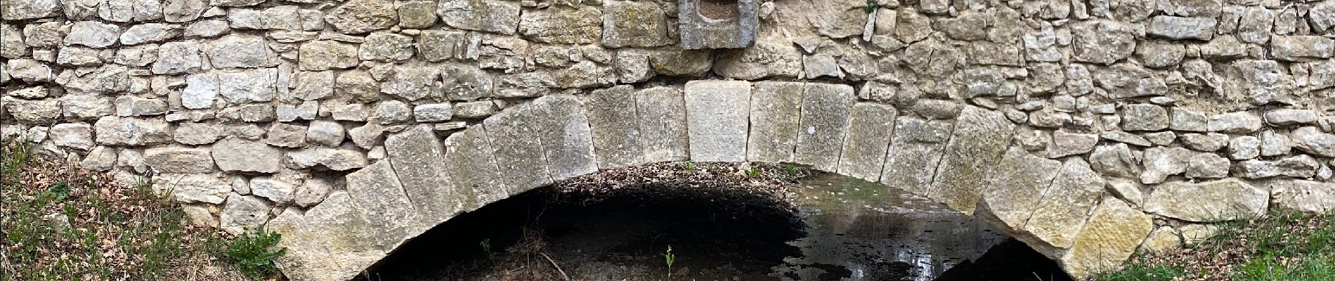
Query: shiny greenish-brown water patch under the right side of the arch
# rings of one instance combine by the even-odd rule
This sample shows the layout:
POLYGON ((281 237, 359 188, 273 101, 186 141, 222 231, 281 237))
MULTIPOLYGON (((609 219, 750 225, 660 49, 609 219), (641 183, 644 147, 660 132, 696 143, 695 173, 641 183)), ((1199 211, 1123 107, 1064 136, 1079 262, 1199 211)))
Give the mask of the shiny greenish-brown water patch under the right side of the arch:
POLYGON ((928 281, 1008 237, 924 197, 838 174, 804 180, 796 201, 808 236, 780 280, 928 281))

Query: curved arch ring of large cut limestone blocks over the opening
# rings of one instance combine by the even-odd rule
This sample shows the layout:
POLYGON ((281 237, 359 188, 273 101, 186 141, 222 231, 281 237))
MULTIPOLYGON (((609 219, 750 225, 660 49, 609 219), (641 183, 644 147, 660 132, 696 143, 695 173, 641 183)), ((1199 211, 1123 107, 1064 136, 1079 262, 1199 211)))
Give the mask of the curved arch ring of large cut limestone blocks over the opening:
POLYGON ((844 84, 724 80, 543 96, 445 139, 426 125, 390 136, 387 157, 347 174, 347 190, 267 225, 284 234, 290 254, 279 264, 290 278, 347 280, 462 212, 554 181, 649 162, 762 161, 980 213, 1077 276, 1105 266, 1091 262, 1120 264, 1153 228, 1148 214, 1105 200, 1084 160, 1011 145, 1016 125, 999 112, 965 105, 936 120, 854 100, 844 84), (1115 240, 1084 245, 1083 236, 1115 240))

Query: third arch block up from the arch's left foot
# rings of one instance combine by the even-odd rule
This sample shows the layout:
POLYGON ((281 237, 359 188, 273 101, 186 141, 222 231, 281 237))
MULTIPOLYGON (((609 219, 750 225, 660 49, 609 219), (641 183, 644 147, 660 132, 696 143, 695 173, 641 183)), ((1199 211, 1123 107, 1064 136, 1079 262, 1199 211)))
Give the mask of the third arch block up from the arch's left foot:
POLYGON ((384 140, 387 161, 427 225, 475 209, 471 188, 455 185, 446 166, 445 148, 427 125, 417 125, 384 140))

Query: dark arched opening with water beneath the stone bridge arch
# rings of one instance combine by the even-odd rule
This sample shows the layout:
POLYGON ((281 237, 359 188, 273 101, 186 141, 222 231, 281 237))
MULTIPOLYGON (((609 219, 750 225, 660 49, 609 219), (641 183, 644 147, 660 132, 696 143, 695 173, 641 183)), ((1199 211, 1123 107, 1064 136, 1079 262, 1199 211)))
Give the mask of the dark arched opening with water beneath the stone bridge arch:
POLYGON ((1023 242, 932 200, 805 168, 728 162, 645 164, 533 189, 437 225, 363 276, 663 280, 669 245, 674 280, 1069 280, 1023 242))

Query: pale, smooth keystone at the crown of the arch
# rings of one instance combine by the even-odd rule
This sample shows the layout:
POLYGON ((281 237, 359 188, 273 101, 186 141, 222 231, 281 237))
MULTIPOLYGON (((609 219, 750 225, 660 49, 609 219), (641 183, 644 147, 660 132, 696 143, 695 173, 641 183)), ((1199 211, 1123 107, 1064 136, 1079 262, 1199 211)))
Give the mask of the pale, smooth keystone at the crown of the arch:
POLYGON ((686 83, 686 128, 690 158, 701 162, 746 160, 752 85, 746 81, 686 83))

